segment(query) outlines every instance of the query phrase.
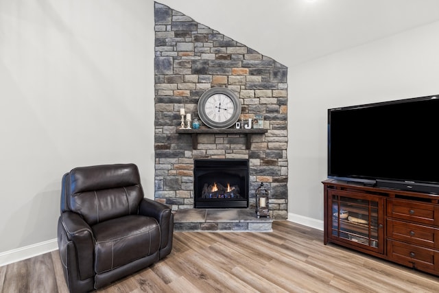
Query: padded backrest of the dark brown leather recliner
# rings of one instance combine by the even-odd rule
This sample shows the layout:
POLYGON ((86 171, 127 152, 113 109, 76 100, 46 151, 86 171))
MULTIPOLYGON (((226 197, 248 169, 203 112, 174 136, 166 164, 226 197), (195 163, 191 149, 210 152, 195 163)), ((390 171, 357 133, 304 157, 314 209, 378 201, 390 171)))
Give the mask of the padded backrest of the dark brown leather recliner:
POLYGON ((89 225, 137 214, 143 198, 134 164, 77 167, 64 175, 62 189, 62 211, 79 213, 89 225))

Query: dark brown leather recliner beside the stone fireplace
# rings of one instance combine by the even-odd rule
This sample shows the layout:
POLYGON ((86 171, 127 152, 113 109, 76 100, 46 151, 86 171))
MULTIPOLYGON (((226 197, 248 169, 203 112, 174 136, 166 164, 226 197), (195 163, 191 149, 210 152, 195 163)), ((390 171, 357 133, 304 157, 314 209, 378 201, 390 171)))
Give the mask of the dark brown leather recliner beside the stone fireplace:
POLYGON ((78 167, 62 177, 58 247, 70 292, 102 288, 171 253, 171 209, 143 197, 134 164, 78 167))

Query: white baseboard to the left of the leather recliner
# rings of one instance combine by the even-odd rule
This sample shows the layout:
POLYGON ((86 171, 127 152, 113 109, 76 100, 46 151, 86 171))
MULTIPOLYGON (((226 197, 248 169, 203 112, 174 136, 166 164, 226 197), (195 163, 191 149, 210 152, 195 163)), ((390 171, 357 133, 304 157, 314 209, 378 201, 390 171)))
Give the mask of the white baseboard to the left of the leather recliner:
POLYGON ((57 249, 58 239, 51 239, 45 242, 5 251, 4 253, 0 253, 0 266, 28 259, 29 257, 35 257, 36 255, 43 255, 43 253, 49 253, 57 249))

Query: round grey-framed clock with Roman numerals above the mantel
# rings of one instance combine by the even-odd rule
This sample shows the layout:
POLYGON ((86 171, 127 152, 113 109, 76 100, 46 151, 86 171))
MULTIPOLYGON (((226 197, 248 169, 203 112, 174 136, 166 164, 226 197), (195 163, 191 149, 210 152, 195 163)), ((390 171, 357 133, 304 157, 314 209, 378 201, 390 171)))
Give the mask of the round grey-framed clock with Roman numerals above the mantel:
POLYGON ((198 100, 198 115, 210 128, 229 128, 241 115, 241 102, 233 91, 215 87, 201 95, 198 100))

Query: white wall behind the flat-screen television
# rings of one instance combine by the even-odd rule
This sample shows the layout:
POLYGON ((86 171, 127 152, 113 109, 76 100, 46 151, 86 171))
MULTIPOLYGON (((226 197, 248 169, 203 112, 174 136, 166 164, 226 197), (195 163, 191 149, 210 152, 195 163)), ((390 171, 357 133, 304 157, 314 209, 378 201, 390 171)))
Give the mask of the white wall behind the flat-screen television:
POLYGON ((293 219, 320 220, 322 228, 327 109, 438 94, 438 35, 436 22, 289 69, 288 211, 293 219))

